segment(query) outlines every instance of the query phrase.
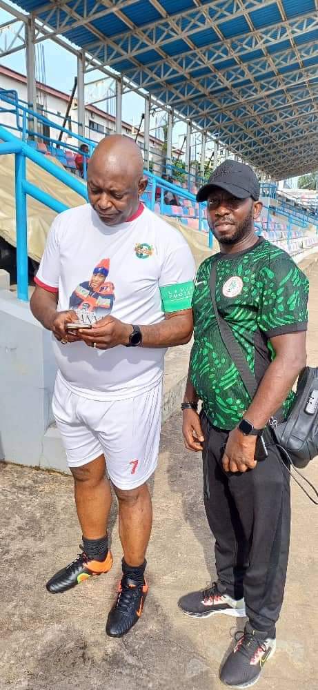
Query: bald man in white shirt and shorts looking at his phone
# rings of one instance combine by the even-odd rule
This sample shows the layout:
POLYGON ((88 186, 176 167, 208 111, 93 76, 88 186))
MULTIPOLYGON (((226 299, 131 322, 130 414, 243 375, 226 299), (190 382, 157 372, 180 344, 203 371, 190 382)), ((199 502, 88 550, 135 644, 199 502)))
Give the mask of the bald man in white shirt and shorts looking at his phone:
POLYGON ((140 203, 146 184, 138 146, 118 135, 103 139, 88 167, 90 204, 54 219, 31 299, 54 336, 52 407, 83 535, 83 553, 46 586, 60 593, 110 570, 107 469, 123 546, 106 624, 114 637, 139 620, 148 591, 146 482, 157 466, 164 355, 192 334, 195 263, 182 235, 140 203), (88 328, 70 329, 79 322, 88 328))

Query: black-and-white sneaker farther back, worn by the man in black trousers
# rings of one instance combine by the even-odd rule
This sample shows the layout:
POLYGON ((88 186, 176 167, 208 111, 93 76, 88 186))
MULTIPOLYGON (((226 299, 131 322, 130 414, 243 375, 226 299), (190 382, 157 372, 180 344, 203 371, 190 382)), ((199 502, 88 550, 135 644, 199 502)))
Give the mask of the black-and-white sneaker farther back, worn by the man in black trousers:
POLYGON ((246 615, 244 599, 236 600, 222 594, 217 589, 217 582, 212 582, 207 589, 185 594, 179 599, 178 606, 183 613, 195 618, 208 618, 215 613, 234 615, 235 618, 246 615))

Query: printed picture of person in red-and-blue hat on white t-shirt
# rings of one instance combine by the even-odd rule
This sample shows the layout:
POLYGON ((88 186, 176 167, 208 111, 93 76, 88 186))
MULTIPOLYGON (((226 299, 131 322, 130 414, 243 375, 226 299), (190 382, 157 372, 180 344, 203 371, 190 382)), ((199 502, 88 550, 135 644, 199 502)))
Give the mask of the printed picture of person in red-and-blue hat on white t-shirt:
POLYGON ((94 322, 109 316, 115 302, 115 286, 106 281, 110 259, 102 259, 89 280, 80 283, 70 296, 70 309, 75 309, 83 322, 94 322))

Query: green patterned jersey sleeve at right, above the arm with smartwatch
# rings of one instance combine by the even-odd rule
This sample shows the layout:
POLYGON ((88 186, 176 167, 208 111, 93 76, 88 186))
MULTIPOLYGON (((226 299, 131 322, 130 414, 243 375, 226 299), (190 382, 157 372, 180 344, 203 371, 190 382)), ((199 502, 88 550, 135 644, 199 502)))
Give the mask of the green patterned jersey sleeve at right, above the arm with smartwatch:
POLYGON ((309 283, 288 257, 281 257, 259 274, 258 324, 268 338, 306 331, 309 283))

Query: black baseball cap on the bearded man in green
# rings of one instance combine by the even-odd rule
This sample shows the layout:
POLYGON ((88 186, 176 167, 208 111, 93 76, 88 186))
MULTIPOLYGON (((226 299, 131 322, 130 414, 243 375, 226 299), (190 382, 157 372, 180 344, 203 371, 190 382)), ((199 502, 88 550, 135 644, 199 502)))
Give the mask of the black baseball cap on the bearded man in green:
POLYGON ((255 201, 259 198, 260 187, 255 172, 239 161, 223 161, 213 170, 207 184, 203 184, 197 193, 197 201, 206 201, 213 187, 221 187, 238 199, 252 197, 255 201))

